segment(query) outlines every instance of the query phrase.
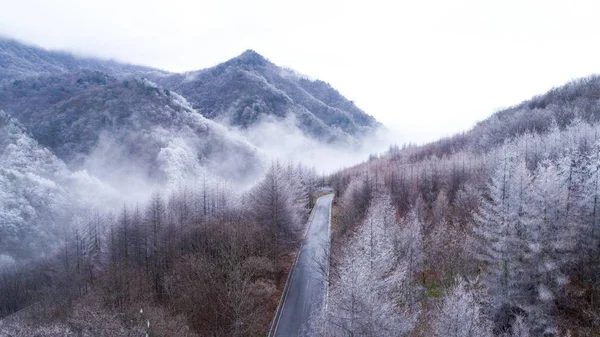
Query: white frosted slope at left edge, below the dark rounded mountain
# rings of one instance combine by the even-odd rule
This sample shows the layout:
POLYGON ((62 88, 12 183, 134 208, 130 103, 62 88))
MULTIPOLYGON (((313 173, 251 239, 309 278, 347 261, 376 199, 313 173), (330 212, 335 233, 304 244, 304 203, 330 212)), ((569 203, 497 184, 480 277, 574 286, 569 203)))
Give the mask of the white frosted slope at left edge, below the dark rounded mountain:
POLYGON ((116 190, 71 172, 0 110, 0 269, 51 253, 74 212, 117 200, 116 190))

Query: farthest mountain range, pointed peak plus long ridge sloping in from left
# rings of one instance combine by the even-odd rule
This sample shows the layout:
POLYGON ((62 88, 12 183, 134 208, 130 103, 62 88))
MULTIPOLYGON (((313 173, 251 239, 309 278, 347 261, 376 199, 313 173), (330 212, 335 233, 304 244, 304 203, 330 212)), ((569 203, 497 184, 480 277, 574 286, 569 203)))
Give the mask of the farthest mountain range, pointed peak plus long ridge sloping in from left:
MULTIPOLYGON (((212 68, 175 74, 0 40, 0 85, 5 87, 19 86, 24 82, 16 80, 32 77, 53 76, 61 82, 57 76, 82 70, 116 79, 150 79, 185 97, 204 117, 228 126, 248 128, 265 118, 287 119, 322 142, 360 141, 381 126, 326 82, 278 67, 252 50, 212 68)), ((46 91, 60 90, 49 87, 46 91)))

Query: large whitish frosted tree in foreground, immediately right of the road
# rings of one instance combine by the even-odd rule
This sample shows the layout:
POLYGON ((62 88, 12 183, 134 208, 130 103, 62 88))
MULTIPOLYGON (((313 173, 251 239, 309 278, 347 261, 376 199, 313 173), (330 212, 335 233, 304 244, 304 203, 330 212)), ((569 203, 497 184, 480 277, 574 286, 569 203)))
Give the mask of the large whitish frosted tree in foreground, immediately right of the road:
POLYGON ((329 293, 330 333, 397 336, 412 328, 418 308, 409 300, 411 262, 398 254, 400 246, 406 252, 415 248, 407 245, 408 228, 400 229, 390 195, 377 193, 338 253, 329 293))

